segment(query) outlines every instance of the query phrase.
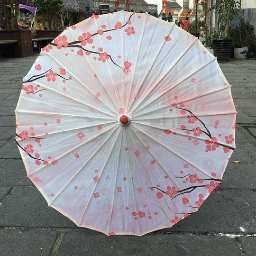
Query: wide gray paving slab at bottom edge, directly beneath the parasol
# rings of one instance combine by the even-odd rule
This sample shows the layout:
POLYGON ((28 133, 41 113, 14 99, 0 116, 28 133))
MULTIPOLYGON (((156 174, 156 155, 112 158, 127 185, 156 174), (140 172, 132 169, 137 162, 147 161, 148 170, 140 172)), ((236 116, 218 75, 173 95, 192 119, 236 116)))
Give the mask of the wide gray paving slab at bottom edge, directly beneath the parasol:
POLYGON ((240 253, 234 239, 228 237, 171 234, 107 237, 96 231, 77 230, 64 236, 57 256, 64 255, 236 256, 240 253))

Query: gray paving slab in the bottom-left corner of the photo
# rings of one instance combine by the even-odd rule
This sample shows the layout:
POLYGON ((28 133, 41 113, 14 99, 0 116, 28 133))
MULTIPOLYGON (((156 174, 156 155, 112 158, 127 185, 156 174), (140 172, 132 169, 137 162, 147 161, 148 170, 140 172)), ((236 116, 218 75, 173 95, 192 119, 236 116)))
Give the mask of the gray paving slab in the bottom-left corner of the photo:
POLYGON ((0 230, 0 255, 48 256, 57 233, 49 230, 0 230))

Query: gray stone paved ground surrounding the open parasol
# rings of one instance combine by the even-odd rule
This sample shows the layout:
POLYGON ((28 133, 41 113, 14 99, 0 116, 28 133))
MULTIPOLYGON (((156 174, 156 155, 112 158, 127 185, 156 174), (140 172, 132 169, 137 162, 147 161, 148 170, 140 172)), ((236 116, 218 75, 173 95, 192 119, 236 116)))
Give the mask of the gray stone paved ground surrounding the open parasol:
POLYGON ((78 229, 47 207, 14 143, 21 79, 36 55, 0 61, 0 255, 256 255, 256 60, 221 64, 233 85, 237 149, 222 184, 200 210, 143 237, 78 229), (239 160, 239 164, 233 163, 239 160))

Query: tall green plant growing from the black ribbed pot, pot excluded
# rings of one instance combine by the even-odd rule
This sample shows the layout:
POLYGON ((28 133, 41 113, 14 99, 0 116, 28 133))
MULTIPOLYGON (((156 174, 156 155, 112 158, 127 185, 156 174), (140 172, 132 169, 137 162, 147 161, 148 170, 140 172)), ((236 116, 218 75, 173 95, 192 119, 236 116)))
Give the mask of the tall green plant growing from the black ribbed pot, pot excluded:
POLYGON ((232 20, 232 14, 236 8, 240 8, 240 1, 236 0, 216 0, 216 3, 210 8, 217 15, 216 37, 217 39, 227 38, 229 35, 229 21, 232 20))

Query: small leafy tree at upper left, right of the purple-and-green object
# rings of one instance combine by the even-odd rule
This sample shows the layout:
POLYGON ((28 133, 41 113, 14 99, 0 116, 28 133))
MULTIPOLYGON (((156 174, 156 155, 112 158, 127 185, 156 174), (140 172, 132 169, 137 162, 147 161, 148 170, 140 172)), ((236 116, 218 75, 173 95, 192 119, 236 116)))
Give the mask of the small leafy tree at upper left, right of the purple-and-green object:
POLYGON ((30 4, 37 7, 38 14, 46 18, 50 29, 56 15, 64 9, 62 0, 31 0, 30 4))

